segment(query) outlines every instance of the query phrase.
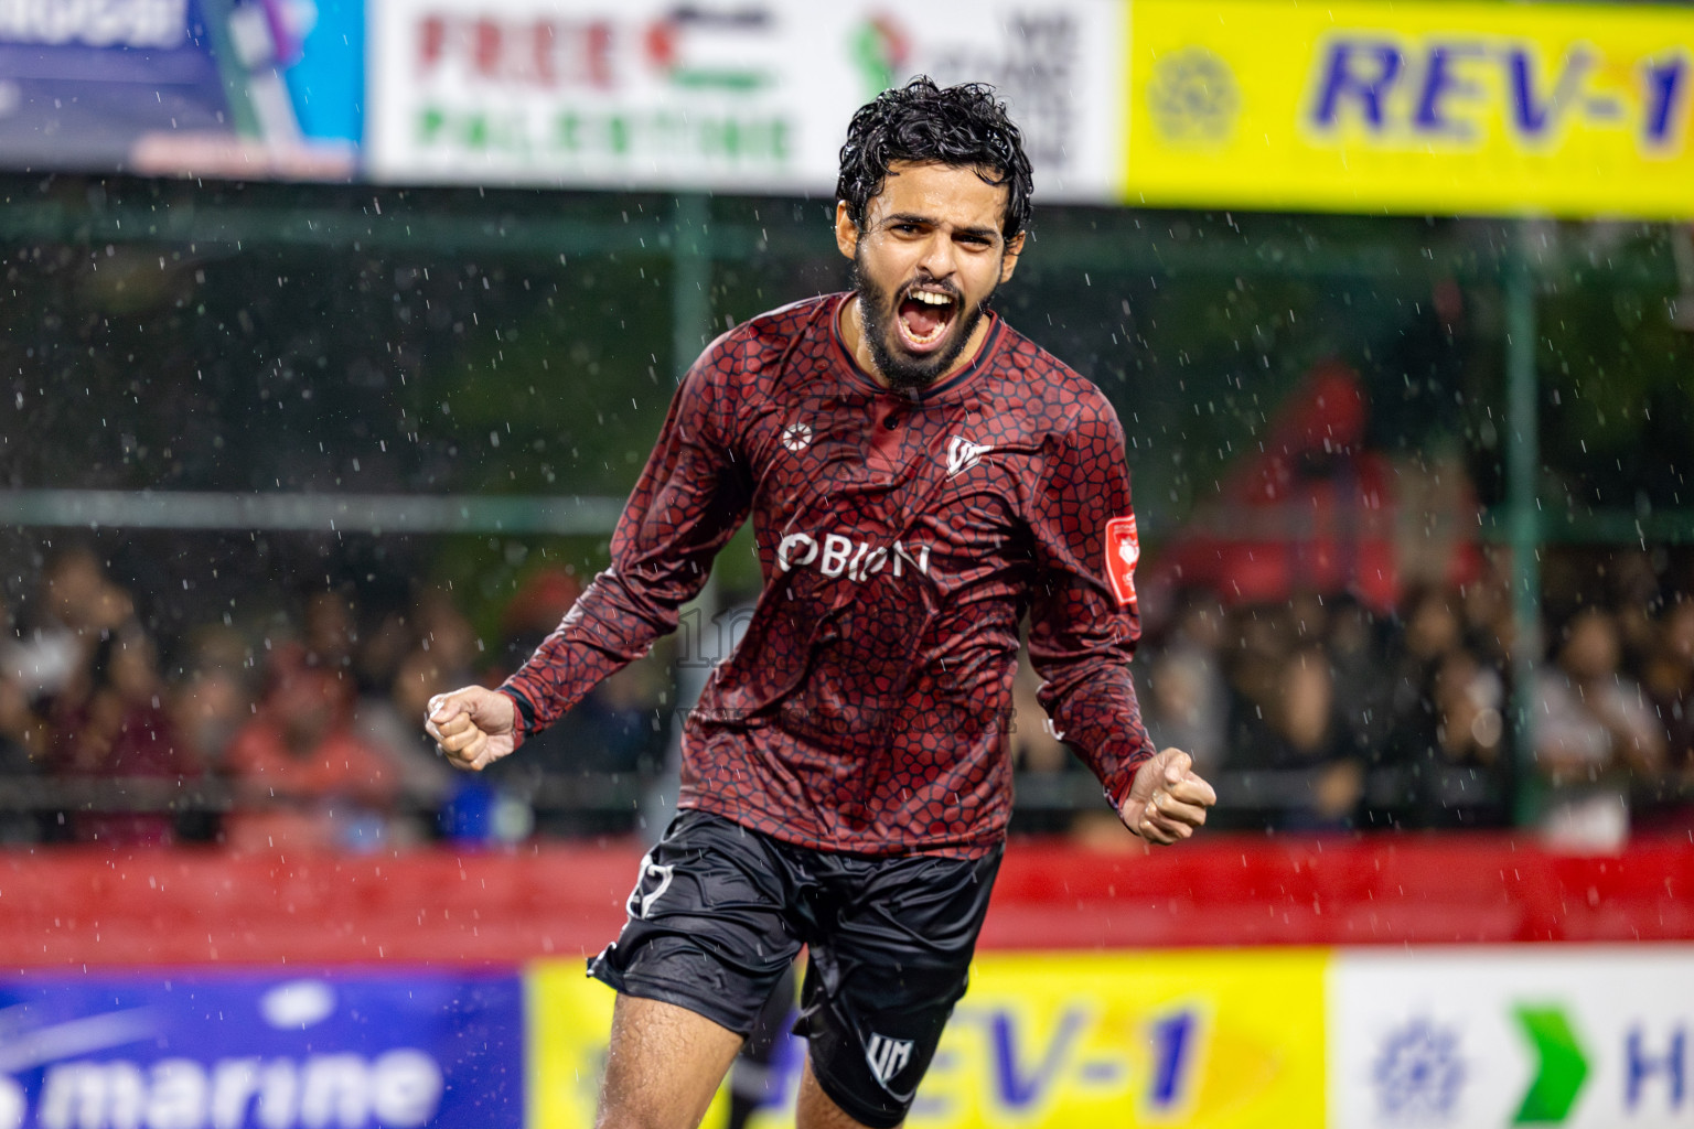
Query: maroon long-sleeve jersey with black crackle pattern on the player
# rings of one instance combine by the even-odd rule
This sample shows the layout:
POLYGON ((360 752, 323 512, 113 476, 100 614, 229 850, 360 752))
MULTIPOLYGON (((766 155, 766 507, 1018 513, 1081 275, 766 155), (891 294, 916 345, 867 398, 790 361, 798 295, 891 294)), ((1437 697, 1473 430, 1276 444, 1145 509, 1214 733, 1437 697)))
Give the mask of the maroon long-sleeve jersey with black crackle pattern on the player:
POLYGON ((688 372, 612 567, 501 687, 518 740, 674 630, 750 513, 764 591, 684 721, 683 807, 820 850, 991 850, 1025 611, 1042 706, 1121 801, 1152 745, 1111 405, 993 315, 962 372, 884 389, 845 300, 757 317, 688 372))

